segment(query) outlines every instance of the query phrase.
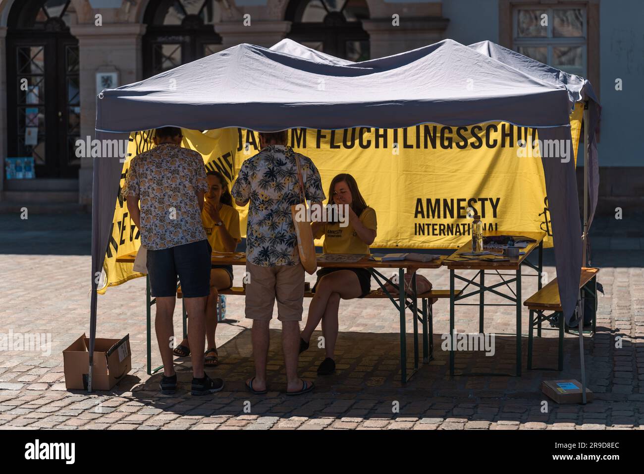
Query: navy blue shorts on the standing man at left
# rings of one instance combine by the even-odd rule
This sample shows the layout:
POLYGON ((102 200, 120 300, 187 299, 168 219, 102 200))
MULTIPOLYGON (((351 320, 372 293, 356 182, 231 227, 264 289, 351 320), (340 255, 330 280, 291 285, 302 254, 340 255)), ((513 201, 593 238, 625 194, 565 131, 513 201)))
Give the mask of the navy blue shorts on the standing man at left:
POLYGON ((162 250, 147 251, 147 275, 153 297, 176 296, 176 277, 184 298, 210 294, 210 254, 208 241, 197 241, 162 250))

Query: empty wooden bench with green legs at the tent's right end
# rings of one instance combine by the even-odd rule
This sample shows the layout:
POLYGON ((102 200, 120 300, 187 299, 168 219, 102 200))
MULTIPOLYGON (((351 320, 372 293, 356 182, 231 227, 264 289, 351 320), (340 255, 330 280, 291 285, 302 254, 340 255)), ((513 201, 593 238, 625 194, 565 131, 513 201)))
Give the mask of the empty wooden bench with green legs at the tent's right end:
MULTIPOLYGON (((592 297, 595 301, 596 309, 596 276, 599 268, 583 267, 579 279, 579 288, 582 291, 582 304, 585 297, 592 297)), ((558 329, 544 328, 544 330, 558 330, 559 331, 559 351, 558 351, 558 371, 564 370, 564 309, 562 308, 559 299, 559 285, 557 279, 549 282, 537 291, 534 295, 529 297, 524 306, 530 310, 529 331, 527 340, 527 369, 532 370, 532 346, 533 346, 533 330, 537 326, 537 337, 541 337, 542 322, 553 322, 555 318, 558 320, 558 329), (549 315, 545 311, 552 311, 549 315), (536 315, 536 317, 535 317, 536 315)), ((581 321, 583 331, 583 321, 581 321)), ((592 313, 592 333, 595 332, 596 317, 595 311, 592 313)), ((535 368, 535 370, 554 370, 551 368, 535 368)))

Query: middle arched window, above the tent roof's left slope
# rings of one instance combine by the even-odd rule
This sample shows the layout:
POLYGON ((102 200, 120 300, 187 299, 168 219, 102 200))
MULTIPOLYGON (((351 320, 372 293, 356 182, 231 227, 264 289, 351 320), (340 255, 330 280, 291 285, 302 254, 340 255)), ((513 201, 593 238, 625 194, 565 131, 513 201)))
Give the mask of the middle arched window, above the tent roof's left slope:
POLYGON ((151 1, 144 15, 144 76, 217 52, 222 38, 214 32, 214 24, 221 15, 216 0, 151 1))

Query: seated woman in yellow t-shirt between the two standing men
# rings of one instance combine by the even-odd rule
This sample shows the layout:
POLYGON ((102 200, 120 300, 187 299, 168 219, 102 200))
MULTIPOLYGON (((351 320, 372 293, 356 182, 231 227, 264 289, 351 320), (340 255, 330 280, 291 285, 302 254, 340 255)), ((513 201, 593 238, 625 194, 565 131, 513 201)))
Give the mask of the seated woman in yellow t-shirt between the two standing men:
MULTIPOLYGON (((208 243, 215 252, 234 252, 242 241, 240 214, 232 207, 232 196, 222 173, 206 173, 209 191, 205 195, 202 222, 208 243)), ((219 365, 214 333, 217 330, 217 302, 219 290, 232 286, 232 265, 212 265, 210 271, 210 295, 205 307, 205 337, 208 341, 204 356, 205 366, 219 365)), ((190 355, 188 339, 184 339, 174 350, 178 357, 190 355)))

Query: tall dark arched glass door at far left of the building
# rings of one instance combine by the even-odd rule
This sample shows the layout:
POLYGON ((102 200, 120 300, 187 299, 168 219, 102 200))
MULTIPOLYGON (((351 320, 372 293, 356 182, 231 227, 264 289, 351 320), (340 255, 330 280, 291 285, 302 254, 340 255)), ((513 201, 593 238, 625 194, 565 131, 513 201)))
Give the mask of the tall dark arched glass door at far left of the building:
POLYGON ((37 177, 78 177, 79 46, 70 0, 17 1, 8 17, 8 155, 33 157, 37 177))

